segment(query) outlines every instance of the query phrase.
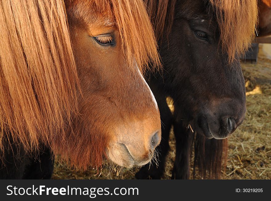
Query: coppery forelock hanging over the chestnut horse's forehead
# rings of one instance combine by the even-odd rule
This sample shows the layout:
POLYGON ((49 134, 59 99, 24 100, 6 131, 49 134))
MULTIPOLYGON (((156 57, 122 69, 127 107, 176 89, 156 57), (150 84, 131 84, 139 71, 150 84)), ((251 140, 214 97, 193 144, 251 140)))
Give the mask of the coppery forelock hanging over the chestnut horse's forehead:
POLYGON ((160 67, 154 31, 143 1, 111 0, 111 5, 128 62, 134 65, 136 60, 141 71, 149 68, 149 63, 160 67))

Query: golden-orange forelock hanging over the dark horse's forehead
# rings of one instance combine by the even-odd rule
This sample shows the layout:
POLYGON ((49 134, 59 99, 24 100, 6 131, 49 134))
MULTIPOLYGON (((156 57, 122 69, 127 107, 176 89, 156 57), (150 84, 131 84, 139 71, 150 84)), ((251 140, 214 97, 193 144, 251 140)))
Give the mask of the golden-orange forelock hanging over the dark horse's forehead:
POLYGON ((210 2, 220 31, 220 44, 232 62, 248 49, 257 32, 257 0, 210 2))

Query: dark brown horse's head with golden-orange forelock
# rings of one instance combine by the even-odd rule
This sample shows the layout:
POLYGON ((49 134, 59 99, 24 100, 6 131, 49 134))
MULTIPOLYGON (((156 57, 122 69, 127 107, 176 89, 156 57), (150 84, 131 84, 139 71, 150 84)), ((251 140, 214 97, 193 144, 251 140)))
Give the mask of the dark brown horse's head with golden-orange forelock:
POLYGON ((165 69, 163 78, 157 77, 163 79, 160 87, 174 101, 176 120, 206 138, 224 139, 244 120, 245 82, 238 55, 254 35, 255 6, 250 0, 177 0, 166 6, 174 16, 168 12, 164 19, 161 14, 153 18, 165 69), (163 29, 169 30, 166 37, 159 31, 163 29))

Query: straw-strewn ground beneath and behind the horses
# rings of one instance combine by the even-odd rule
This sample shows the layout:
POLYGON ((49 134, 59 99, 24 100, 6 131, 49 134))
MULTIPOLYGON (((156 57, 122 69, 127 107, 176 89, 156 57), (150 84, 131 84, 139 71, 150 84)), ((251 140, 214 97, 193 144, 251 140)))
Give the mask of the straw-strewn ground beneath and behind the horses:
MULTIPOLYGON (((259 47, 257 64, 242 63, 247 112, 243 124, 228 138, 227 166, 221 179, 271 179, 271 44, 259 47)), ((171 133, 171 149, 163 179, 171 178, 174 143, 171 133)), ((53 179, 134 179, 136 171, 138 168, 126 170, 105 166, 97 175, 94 169, 75 171, 56 159, 53 179)))

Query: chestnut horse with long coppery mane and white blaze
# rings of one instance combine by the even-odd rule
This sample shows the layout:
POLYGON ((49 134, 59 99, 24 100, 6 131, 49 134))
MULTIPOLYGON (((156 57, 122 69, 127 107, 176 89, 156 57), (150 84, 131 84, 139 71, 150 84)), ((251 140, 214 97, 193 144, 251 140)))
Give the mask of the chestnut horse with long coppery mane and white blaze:
POLYGON ((160 114, 141 73, 160 61, 142 0, 1 0, 0 30, 2 178, 42 146, 83 170, 151 160, 160 114))

